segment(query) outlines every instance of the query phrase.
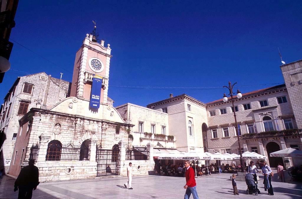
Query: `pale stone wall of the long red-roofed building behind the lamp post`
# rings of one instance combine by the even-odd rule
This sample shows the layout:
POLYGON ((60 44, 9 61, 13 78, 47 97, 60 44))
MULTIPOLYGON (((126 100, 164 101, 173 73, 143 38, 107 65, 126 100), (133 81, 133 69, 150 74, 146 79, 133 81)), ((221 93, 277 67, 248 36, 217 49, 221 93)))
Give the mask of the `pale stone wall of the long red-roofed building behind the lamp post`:
MULTIPOLYGON (((255 131, 263 132, 264 126, 262 122, 262 117, 268 115, 272 117, 274 121, 275 130, 277 130, 277 125, 279 130, 284 129, 283 119, 290 118, 293 121, 294 127, 296 126, 295 119, 293 117, 293 112, 291 109, 291 103, 281 103, 277 101, 278 96, 286 96, 287 99, 288 93, 285 87, 280 87, 278 89, 272 89, 270 91, 265 91, 262 93, 257 93, 257 96, 247 96, 246 99, 237 100, 234 102, 234 106, 238 106, 238 112, 236 112, 237 123, 241 127, 242 134, 248 133, 247 124, 254 124, 255 122, 255 131), (259 101, 268 100, 268 106, 260 107, 259 101), (251 109, 244 110, 243 104, 250 103, 251 109)), ((238 154, 238 140, 236 136, 236 126, 233 112, 231 110, 231 100, 227 103, 217 103, 214 106, 207 107, 208 115, 208 130, 207 130, 207 139, 209 145, 209 152, 222 152, 225 153, 225 149, 231 149, 232 153, 238 154), (220 109, 226 108, 226 114, 220 114, 220 109), (210 111, 215 110, 216 116, 210 116, 210 111), (223 127, 229 127, 229 137, 224 137, 223 127), (217 129, 218 138, 212 138, 211 129, 217 129), (214 151, 215 150, 215 151, 214 151)), ((241 146, 244 148, 244 146, 241 146)), ((244 148, 244 151, 249 150, 250 148, 244 148)), ((258 146, 258 150, 260 148, 258 146)))

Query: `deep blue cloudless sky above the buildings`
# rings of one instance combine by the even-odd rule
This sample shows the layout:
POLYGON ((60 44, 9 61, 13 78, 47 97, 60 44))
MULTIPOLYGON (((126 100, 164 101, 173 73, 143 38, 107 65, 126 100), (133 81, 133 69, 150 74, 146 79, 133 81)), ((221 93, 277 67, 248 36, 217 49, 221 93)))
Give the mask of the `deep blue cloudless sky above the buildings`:
POLYGON ((71 81, 92 20, 111 44, 114 106, 146 106, 169 93, 207 103, 222 98, 229 80, 243 93, 274 86, 284 82, 278 47, 286 63, 302 59, 301 10, 301 1, 19 1, 0 103, 27 73, 71 81))

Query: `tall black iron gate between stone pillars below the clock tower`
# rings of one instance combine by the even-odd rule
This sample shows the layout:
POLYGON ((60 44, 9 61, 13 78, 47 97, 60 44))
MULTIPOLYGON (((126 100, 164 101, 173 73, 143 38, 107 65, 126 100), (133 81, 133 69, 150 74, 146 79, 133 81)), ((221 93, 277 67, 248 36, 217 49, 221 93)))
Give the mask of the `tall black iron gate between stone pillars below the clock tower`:
POLYGON ((97 176, 117 175, 118 148, 101 149, 96 146, 97 176))

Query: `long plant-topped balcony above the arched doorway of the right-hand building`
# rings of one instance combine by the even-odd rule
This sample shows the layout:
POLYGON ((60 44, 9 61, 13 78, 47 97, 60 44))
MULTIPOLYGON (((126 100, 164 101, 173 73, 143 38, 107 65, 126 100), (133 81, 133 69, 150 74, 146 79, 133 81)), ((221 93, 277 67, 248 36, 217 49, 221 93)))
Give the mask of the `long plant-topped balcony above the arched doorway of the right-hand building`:
POLYGON ((261 133, 247 133, 241 136, 242 139, 258 139, 258 138, 269 138, 269 137, 289 137, 297 136, 302 137, 301 129, 286 129, 282 131, 268 131, 261 133))

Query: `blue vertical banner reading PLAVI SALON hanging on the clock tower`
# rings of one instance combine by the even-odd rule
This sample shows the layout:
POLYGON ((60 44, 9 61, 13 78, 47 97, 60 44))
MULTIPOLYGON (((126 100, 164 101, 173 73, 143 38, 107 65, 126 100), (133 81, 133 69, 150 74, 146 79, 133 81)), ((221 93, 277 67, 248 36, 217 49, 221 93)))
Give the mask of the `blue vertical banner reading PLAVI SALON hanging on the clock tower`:
POLYGON ((90 95, 90 103, 89 107, 91 109, 100 108, 100 98, 101 98, 101 88, 102 88, 102 79, 100 78, 92 78, 92 87, 91 87, 91 95, 90 95))

